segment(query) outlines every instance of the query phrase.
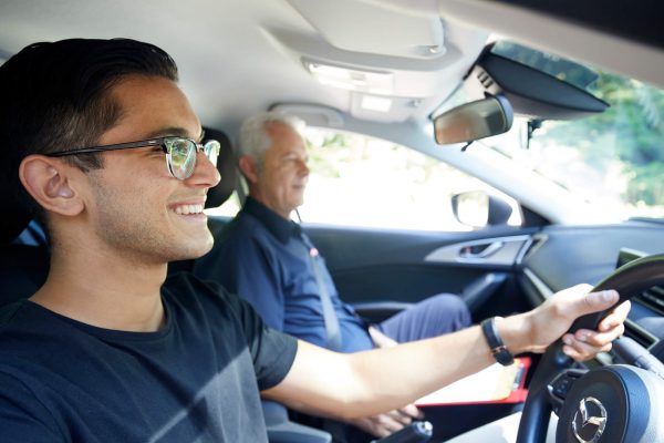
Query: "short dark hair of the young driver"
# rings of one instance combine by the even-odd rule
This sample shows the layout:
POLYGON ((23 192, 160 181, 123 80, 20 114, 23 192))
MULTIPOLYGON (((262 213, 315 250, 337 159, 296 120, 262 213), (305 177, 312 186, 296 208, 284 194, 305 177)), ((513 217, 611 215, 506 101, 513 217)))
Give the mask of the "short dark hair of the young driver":
MULTIPOLYGON (((122 113, 108 91, 128 75, 177 81, 177 66, 162 49, 128 39, 34 43, 1 65, 0 189, 42 215, 19 181, 21 161, 97 144, 122 113)), ((64 158, 84 172, 102 167, 95 154, 64 158)))

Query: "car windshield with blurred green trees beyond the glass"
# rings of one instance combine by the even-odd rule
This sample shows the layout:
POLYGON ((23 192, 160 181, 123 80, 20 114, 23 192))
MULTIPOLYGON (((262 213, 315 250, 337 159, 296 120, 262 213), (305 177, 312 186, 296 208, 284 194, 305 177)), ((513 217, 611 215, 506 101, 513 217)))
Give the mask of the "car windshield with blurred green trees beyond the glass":
POLYGON ((517 117, 510 132, 476 143, 602 205, 614 218, 664 217, 664 91, 559 58, 549 55, 546 64, 522 54, 515 59, 585 89, 610 107, 573 121, 517 117))

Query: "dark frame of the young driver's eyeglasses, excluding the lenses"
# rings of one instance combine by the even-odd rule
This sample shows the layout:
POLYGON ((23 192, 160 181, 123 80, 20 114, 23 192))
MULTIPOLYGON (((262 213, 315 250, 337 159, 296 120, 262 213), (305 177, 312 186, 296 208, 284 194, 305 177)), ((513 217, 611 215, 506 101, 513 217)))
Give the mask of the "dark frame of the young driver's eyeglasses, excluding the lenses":
POLYGON ((138 148, 138 147, 160 146, 164 154, 166 154, 166 165, 168 167, 168 173, 170 174, 170 176, 174 178, 178 178, 178 179, 189 178, 191 176, 191 174, 194 174, 194 169, 196 168, 196 155, 194 156, 194 164, 191 165, 191 171, 188 172, 185 177, 181 177, 181 178, 178 177, 175 174, 175 171, 173 167, 173 158, 172 158, 172 154, 170 154, 170 147, 166 143, 166 141, 172 141, 172 140, 173 141, 177 141, 177 140, 188 141, 196 147, 196 153, 199 153, 199 152, 204 153, 205 156, 210 162, 212 162, 212 164, 215 166, 217 166, 217 158, 219 157, 219 150, 221 148, 221 144, 218 141, 208 140, 205 143, 198 143, 191 138, 177 137, 177 136, 148 138, 148 140, 141 140, 137 142, 116 143, 116 144, 112 144, 112 145, 89 146, 89 147, 81 147, 81 148, 71 150, 71 151, 60 151, 60 152, 49 153, 49 154, 44 154, 44 155, 46 155, 48 157, 65 157, 69 155, 94 154, 94 153, 106 152, 106 151, 121 151, 121 150, 134 150, 134 148, 138 148), (215 153, 214 159, 210 155, 212 152, 215 153))

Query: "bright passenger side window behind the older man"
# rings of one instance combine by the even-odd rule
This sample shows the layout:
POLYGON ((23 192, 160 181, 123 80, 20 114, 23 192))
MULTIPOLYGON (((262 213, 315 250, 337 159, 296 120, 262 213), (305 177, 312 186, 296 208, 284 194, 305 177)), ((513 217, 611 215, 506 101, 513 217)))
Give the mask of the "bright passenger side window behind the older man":
MULTIPOLYGON (((470 230, 452 209, 453 196, 483 190, 519 205, 486 183, 436 158, 378 138, 309 127, 311 175, 299 213, 307 223, 418 230, 470 230)), ((473 205, 466 205, 473 210, 473 205)))

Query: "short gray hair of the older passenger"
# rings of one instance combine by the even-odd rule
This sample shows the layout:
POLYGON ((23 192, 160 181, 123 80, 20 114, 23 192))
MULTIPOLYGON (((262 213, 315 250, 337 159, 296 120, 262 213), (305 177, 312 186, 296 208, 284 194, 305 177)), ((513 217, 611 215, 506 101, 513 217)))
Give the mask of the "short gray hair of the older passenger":
POLYGON ((270 147, 272 140, 268 134, 268 125, 281 123, 290 126, 298 134, 302 135, 305 124, 304 121, 294 116, 282 114, 276 111, 261 112, 247 119, 240 127, 238 136, 238 155, 247 155, 261 165, 264 152, 270 147))

